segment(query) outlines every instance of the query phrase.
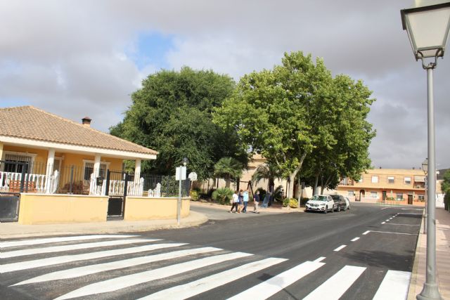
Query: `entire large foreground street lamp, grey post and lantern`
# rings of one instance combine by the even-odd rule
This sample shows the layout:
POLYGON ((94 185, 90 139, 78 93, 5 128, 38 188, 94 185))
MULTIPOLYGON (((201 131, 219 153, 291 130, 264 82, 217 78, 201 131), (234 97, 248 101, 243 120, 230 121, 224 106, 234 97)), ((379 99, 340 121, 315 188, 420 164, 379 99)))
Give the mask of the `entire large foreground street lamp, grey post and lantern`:
POLYGON ((444 56, 450 29, 450 2, 401 10, 401 23, 408 32, 416 60, 427 70, 428 87, 428 218, 426 280, 417 299, 442 299, 436 281, 436 161, 435 112, 433 103, 433 70, 437 58, 444 56), (430 59, 427 64, 426 59, 430 59), (431 174, 431 176, 430 176, 431 174))

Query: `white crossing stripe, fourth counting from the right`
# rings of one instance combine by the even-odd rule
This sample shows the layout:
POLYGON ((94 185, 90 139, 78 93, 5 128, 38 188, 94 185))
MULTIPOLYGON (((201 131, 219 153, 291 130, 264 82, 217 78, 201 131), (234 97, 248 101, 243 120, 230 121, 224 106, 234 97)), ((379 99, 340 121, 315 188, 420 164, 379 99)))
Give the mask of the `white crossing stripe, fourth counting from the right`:
POLYGON ((191 296, 207 292, 210 289, 226 285, 229 282, 243 278, 244 276, 255 273, 259 270, 269 268, 277 263, 287 261, 287 259, 263 259, 262 261, 255 261, 252 263, 247 263, 243 266, 238 266, 237 268, 232 268, 231 270, 226 270, 221 273, 207 276, 205 278, 200 278, 193 282, 188 282, 185 285, 178 285, 176 287, 170 287, 169 289, 163 289, 155 294, 150 294, 139 300, 143 299, 186 299, 191 296))

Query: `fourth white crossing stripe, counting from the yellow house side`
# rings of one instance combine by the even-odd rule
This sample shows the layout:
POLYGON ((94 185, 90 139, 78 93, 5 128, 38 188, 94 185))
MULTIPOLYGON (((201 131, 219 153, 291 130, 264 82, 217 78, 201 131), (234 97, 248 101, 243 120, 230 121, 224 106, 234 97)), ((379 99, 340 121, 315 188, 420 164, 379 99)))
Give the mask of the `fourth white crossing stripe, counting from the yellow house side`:
POLYGON ((34 282, 76 278, 76 277, 81 277, 81 276, 85 276, 85 275, 89 275, 89 274, 105 272, 108 270, 116 270, 119 268, 129 268, 131 266, 138 266, 138 265, 142 265, 144 263, 153 263, 155 261, 176 259, 176 258, 183 257, 183 256, 207 253, 207 252, 214 252, 214 251, 219 251, 219 250, 221 250, 221 249, 213 248, 213 247, 204 247, 204 248, 198 248, 198 249, 187 249, 187 250, 179 250, 179 251, 162 253, 162 254, 140 256, 140 257, 136 257, 134 259, 124 259, 122 261, 111 261, 109 263, 98 263, 96 265, 83 266, 83 267, 79 267, 79 268, 71 268, 71 269, 67 269, 67 270, 60 270, 60 271, 56 271, 53 273, 44 274, 41 276, 37 276, 35 278, 31 278, 29 280, 18 282, 15 285, 26 285, 28 283, 34 283, 34 282))

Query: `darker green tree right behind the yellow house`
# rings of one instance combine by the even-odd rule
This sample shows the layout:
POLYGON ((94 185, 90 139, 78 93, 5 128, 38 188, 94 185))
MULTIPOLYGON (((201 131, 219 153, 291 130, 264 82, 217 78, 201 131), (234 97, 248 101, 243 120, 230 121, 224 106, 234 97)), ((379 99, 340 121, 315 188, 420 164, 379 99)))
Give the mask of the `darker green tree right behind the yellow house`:
POLYGON ((234 86, 231 77, 210 70, 183 67, 150 74, 132 93, 123 121, 110 133, 158 150, 155 161, 143 164, 156 174, 173 174, 183 157, 200 179, 212 176, 221 157, 236 157, 245 164, 245 147, 233 129, 212 123, 212 110, 231 96, 234 86))

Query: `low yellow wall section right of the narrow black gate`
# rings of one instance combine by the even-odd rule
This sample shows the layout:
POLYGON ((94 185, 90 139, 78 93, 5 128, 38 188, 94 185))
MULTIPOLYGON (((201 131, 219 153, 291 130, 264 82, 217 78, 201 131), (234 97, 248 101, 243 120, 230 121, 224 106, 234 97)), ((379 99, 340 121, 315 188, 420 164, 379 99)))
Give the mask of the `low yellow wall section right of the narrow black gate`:
MULTIPOLYGON (((190 198, 181 200, 181 217, 189 216, 190 198)), ((178 198, 127 197, 124 220, 176 219, 178 198)))

